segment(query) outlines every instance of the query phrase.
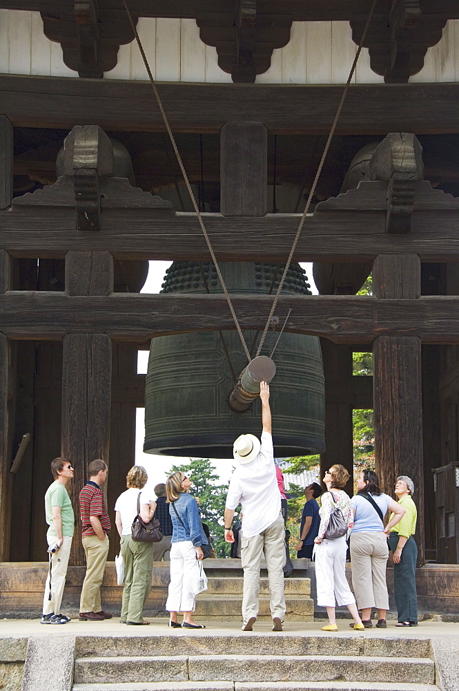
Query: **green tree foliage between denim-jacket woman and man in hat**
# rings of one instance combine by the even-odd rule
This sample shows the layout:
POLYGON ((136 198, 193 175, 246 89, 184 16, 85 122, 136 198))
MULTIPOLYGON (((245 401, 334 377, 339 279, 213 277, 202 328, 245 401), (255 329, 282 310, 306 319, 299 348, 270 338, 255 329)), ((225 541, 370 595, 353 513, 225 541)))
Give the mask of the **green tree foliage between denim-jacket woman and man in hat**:
POLYGON ((171 473, 180 471, 185 473, 193 487, 191 494, 199 499, 199 511, 202 520, 208 524, 208 529, 213 536, 213 547, 217 557, 229 556, 231 545, 224 540, 223 514, 225 509, 226 494, 228 486, 226 484, 215 484, 219 476, 215 473, 213 466, 208 458, 191 458, 188 464, 173 466, 171 473))

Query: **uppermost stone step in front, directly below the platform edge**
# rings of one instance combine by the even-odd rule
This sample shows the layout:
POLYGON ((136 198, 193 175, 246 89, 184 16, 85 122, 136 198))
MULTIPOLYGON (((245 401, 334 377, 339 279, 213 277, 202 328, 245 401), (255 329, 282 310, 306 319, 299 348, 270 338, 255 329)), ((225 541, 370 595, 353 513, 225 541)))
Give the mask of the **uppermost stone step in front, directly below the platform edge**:
MULTIPOLYGON (((164 623, 166 627, 166 622, 164 623)), ((256 627, 256 624, 255 624, 256 627)), ((167 629, 164 634, 142 636, 77 636, 75 656, 159 656, 170 655, 353 655, 367 657, 409 657, 429 658, 430 641, 426 638, 389 638, 379 632, 353 632, 345 634, 326 634, 310 632, 282 634, 256 631, 244 633, 237 630, 222 634, 208 630, 189 631, 186 629, 167 629)))

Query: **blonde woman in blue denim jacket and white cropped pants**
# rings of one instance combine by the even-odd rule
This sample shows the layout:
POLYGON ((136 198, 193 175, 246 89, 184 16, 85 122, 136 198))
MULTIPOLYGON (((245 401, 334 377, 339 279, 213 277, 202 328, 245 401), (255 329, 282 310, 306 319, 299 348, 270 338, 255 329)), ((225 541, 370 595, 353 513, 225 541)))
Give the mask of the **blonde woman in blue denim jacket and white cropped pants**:
POLYGON ((194 583, 197 580, 197 560, 204 556, 201 545, 207 544, 202 529, 197 502, 191 494, 191 480, 177 471, 166 481, 166 498, 172 520, 172 547, 170 548, 170 583, 166 609, 170 612, 169 626, 179 628, 177 612, 182 611, 186 629, 204 629, 204 624, 193 621, 195 611, 194 583), (175 513, 177 511, 177 513, 175 513))

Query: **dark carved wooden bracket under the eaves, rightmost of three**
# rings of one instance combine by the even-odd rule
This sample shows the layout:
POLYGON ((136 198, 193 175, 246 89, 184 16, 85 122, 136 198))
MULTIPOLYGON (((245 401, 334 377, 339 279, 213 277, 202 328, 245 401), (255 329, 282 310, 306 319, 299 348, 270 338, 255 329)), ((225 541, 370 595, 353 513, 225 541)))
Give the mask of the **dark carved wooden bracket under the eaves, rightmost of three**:
MULTIPOLYGON (((438 44, 448 16, 422 10, 420 0, 392 0, 387 14, 373 17, 364 47, 369 48, 371 69, 384 82, 408 82, 424 66, 427 48, 438 44)), ((352 37, 360 44, 366 19, 351 20, 352 37)))

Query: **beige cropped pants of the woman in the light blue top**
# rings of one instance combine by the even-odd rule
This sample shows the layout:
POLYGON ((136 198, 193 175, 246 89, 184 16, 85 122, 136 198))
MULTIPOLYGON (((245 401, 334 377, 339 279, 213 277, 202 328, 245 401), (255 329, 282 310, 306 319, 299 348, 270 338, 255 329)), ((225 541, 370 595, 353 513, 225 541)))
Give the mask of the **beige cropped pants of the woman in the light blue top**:
POLYGON ((387 538, 381 532, 351 533, 352 586, 359 609, 389 609, 387 538))

